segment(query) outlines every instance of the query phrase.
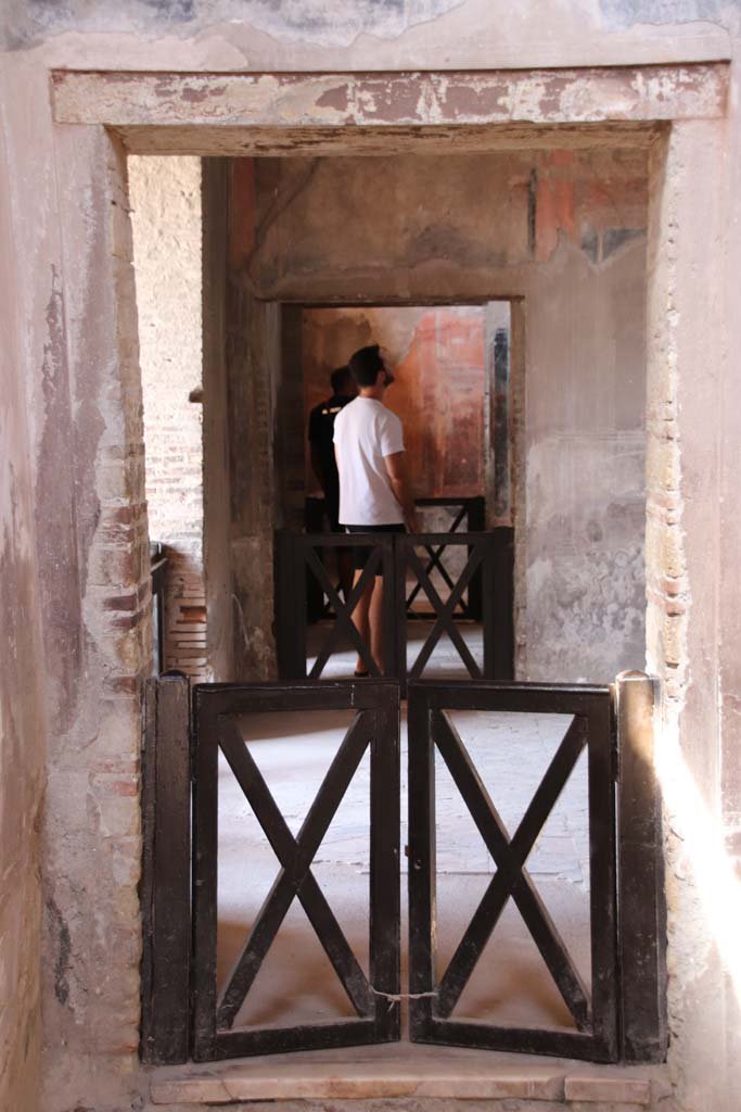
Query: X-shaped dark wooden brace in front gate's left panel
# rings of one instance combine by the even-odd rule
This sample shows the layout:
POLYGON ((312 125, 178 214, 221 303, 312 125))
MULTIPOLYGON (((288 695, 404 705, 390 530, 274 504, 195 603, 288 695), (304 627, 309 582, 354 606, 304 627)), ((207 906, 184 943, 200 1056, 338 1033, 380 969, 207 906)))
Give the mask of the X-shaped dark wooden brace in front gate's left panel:
POLYGON ((294 896, 301 901, 356 1012, 364 1017, 372 1016, 374 999, 366 974, 310 867, 368 747, 366 715, 358 715, 350 726, 296 838, 244 738, 233 719, 227 716, 219 718, 219 744, 268 836, 281 870, 229 974, 217 1005, 217 1026, 223 1030, 232 1025, 294 896))

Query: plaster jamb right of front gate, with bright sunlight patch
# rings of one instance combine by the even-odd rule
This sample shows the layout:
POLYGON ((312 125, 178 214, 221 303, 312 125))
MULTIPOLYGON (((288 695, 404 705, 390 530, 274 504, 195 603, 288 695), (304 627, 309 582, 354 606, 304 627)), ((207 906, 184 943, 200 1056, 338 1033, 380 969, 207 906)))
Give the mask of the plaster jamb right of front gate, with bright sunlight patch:
POLYGON ((718 713, 727 138, 724 120, 690 120, 652 149, 648 252, 647 642, 662 682, 669 1062, 678 1106, 718 1112, 738 1091, 727 1036, 739 1023, 738 1003, 720 1003, 738 953, 718 713))

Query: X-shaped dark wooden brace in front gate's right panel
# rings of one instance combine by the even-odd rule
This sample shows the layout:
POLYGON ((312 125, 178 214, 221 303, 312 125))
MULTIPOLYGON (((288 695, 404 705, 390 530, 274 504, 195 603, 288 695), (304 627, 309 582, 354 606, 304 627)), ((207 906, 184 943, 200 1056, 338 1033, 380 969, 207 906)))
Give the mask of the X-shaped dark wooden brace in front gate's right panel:
POLYGON ((432 736, 497 865, 497 873, 438 986, 438 1015, 444 1019, 452 1012, 504 904, 512 896, 577 1026, 585 1030, 590 1024, 589 993, 524 868, 585 745, 585 719, 574 716, 511 841, 458 731, 442 712, 433 714, 432 736))

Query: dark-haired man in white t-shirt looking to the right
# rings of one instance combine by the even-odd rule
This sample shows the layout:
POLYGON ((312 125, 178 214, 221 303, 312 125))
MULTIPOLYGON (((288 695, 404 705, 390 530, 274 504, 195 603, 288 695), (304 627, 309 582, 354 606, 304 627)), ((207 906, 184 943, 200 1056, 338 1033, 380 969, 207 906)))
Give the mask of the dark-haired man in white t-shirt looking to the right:
MULTIPOLYGON (((348 533, 403 533, 404 523, 417 529, 414 502, 404 465, 401 421, 383 405, 383 394, 393 381, 378 345, 361 348, 350 359, 358 397, 334 420, 334 455, 340 476, 340 524, 348 533)), ((357 548, 358 582, 370 549, 357 548)), ((352 620, 371 656, 383 672, 383 577, 379 569, 352 612, 352 620)), ((358 658, 356 675, 368 675, 358 658)))

